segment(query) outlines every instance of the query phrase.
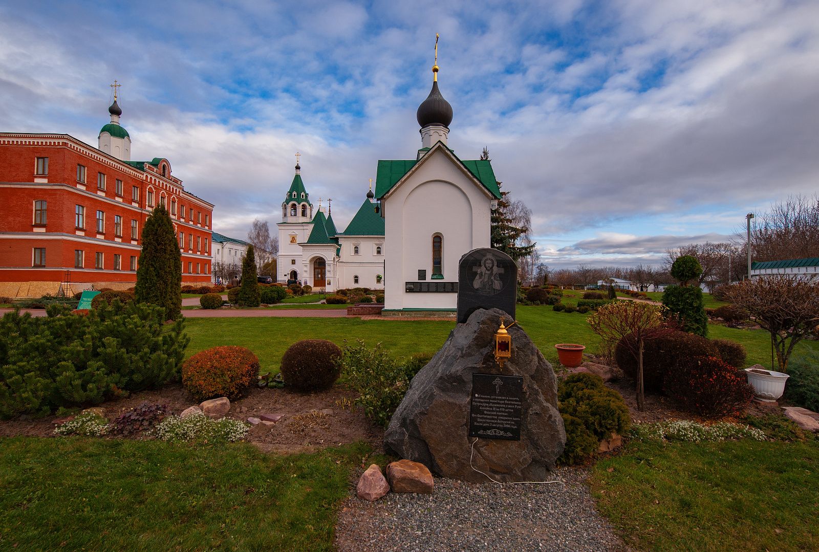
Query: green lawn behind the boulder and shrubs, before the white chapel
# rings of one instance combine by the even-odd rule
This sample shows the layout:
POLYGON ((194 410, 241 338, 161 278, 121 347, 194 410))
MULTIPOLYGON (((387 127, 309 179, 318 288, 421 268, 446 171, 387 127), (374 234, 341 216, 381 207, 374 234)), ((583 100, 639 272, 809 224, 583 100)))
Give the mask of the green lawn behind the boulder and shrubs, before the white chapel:
MULTIPOLYGON (((272 308, 293 308, 282 305, 272 308)), ((318 306, 318 305, 314 305, 318 306)), ((327 305, 333 307, 336 305, 327 305)), ((345 305, 337 305, 345 308, 345 305)), ((310 308, 303 305, 302 308, 310 308)), ((579 343, 594 354, 600 337, 586 322, 589 314, 555 312, 550 306, 518 305, 518 324, 526 330, 546 359, 557 361, 556 343, 579 343)), ((224 318, 188 319, 191 337, 188 355, 217 345, 240 345, 256 353, 262 369, 278 371, 278 364, 288 346, 302 339, 322 338, 342 345, 344 339, 361 337, 374 345, 383 342, 395 356, 416 352, 434 352, 446 341, 455 322, 434 320, 361 320, 314 318, 224 318)), ((708 325, 709 337, 723 337, 740 342, 748 351, 748 363, 770 364, 770 337, 762 330, 740 330, 715 324, 708 325)), ((819 342, 801 342, 796 351, 807 347, 819 349, 819 342)))

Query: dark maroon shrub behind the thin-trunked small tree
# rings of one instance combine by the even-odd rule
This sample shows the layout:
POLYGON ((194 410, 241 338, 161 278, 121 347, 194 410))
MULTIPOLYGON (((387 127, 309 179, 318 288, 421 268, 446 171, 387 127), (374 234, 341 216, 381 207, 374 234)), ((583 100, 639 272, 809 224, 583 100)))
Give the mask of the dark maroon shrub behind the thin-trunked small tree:
MULTIPOLYGON (((637 378, 637 360, 624 344, 634 343, 634 336, 623 337, 614 351, 614 358, 628 378, 637 378)), ((693 333, 672 332, 663 337, 649 339, 643 346, 643 385, 645 391, 663 391, 666 373, 690 356, 718 356, 717 346, 705 337, 693 333)))

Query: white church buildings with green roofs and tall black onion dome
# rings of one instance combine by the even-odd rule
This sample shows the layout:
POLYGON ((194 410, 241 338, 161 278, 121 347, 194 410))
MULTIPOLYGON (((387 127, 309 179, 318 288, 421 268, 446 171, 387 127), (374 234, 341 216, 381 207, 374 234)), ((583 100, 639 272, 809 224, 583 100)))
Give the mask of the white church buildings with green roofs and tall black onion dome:
POLYGON ((344 232, 330 209, 314 212, 296 164, 278 223, 279 282, 383 289, 387 315, 456 310, 459 260, 490 247, 500 189, 490 161, 462 161, 450 149, 452 106, 438 90, 437 63, 432 75, 415 159, 378 161, 375 192, 344 232))

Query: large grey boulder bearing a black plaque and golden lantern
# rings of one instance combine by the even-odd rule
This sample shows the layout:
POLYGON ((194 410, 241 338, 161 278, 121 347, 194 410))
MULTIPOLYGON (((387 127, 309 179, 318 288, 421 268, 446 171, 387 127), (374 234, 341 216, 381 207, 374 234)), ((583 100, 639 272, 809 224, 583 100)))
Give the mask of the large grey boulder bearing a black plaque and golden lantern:
POLYGON ((563 453, 566 433, 557 408, 554 370, 517 325, 509 328, 512 358, 495 363, 495 332, 513 320, 502 310, 476 310, 459 324, 429 364, 415 375, 396 409, 384 444, 400 458, 432 473, 486 482, 470 466, 475 437, 468 437, 473 373, 523 377, 520 441, 477 438, 472 464, 499 482, 543 481, 563 453))

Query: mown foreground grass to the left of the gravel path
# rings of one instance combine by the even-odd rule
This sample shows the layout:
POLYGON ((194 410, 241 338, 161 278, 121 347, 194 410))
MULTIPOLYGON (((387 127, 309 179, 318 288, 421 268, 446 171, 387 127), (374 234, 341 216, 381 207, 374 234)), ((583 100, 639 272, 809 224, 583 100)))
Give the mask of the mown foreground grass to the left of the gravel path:
POLYGON ((337 505, 368 453, 0 439, 0 549, 333 550, 337 505))

